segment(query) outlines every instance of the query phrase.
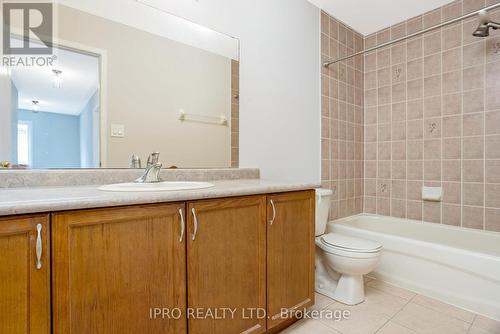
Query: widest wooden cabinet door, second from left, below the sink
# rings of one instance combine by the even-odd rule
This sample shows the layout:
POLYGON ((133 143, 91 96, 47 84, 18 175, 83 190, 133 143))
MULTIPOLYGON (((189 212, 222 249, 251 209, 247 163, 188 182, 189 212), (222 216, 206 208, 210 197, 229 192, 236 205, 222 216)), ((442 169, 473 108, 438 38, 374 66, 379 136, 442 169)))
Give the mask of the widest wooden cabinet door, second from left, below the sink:
POLYGON ((186 333, 184 208, 53 214, 54 332, 186 333), (154 308, 183 316, 154 318, 154 308))

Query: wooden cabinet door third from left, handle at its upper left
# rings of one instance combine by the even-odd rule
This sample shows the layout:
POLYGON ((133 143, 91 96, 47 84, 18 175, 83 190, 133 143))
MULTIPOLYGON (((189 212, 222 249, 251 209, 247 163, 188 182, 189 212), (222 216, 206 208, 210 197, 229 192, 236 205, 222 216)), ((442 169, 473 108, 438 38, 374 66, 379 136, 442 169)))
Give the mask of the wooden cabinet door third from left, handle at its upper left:
POLYGON ((265 332, 250 314, 266 307, 265 197, 192 202, 188 213, 188 305, 212 312, 190 317, 189 333, 265 332))

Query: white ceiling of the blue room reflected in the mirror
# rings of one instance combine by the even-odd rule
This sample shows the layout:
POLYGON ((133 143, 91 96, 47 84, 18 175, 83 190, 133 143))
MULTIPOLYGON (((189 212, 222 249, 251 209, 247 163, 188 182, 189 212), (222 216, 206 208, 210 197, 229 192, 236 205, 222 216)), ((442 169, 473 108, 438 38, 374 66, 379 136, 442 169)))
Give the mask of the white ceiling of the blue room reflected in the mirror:
POLYGON ((99 88, 99 59, 61 49, 54 49, 54 54, 57 55, 54 67, 12 69, 19 108, 32 110, 32 101, 37 100, 39 111, 79 115, 99 88), (61 88, 53 87, 53 69, 62 71, 61 88))

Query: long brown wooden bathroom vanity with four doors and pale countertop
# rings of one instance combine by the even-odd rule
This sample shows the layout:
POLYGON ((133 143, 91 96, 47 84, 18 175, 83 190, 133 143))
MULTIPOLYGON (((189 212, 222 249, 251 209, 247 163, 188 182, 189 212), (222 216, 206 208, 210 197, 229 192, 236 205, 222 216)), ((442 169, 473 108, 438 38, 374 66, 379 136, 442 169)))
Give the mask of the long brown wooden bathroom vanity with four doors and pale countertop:
POLYGON ((0 197, 2 333, 271 333, 314 304, 311 186, 0 197))

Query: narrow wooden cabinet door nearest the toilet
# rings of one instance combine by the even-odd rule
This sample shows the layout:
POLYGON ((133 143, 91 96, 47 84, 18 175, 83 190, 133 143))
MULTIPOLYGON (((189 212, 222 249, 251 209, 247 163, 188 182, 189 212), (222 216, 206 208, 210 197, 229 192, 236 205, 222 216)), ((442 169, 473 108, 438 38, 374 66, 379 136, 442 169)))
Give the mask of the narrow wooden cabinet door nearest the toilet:
POLYGON ((268 328, 285 318, 281 310, 314 304, 314 192, 268 196, 268 328))

